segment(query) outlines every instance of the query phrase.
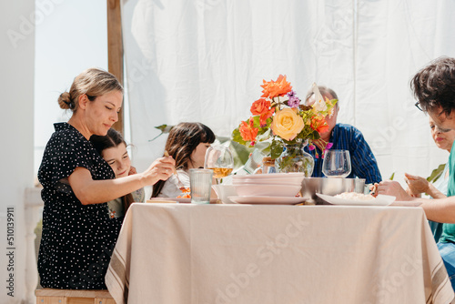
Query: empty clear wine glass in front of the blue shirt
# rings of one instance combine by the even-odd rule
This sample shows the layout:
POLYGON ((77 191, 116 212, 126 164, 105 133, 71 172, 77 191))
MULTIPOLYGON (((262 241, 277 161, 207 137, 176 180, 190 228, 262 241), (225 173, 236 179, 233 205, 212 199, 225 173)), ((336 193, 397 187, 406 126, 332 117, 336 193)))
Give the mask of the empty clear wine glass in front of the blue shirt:
POLYGON ((322 173, 326 177, 348 177, 350 174, 348 150, 327 150, 322 162, 322 173))

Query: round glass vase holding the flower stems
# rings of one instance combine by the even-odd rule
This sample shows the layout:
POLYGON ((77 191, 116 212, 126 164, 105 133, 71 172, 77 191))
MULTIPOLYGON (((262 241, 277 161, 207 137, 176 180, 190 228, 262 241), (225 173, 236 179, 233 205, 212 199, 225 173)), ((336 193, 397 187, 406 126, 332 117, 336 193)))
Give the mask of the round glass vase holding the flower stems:
POLYGON ((313 157, 303 150, 308 141, 286 145, 283 153, 276 160, 276 167, 280 173, 302 172, 305 177, 311 177, 314 168, 313 157))

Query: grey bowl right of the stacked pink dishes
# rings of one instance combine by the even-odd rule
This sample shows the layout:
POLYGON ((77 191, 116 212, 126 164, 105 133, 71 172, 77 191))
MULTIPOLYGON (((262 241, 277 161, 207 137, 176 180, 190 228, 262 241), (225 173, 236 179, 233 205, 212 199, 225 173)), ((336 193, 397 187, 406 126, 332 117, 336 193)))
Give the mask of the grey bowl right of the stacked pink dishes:
POLYGON ((300 190, 302 197, 307 198, 309 203, 317 205, 327 204, 325 200, 316 194, 335 196, 343 192, 363 193, 365 179, 363 178, 326 178, 326 177, 305 177, 300 190))

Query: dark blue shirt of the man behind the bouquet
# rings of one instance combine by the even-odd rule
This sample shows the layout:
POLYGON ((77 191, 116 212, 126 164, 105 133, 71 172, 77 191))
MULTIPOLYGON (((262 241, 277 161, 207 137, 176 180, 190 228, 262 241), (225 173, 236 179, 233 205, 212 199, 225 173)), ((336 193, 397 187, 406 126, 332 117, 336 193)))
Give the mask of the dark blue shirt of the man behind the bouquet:
MULTIPOLYGON (((379 183, 382 180, 378 162, 358 128, 337 124, 332 130, 329 142, 333 144, 330 149, 349 150, 352 167, 349 178, 365 178, 366 184, 379 183)), ((305 147, 305 151, 311 154, 315 160, 312 177, 324 177, 322 173, 323 151, 319 147, 316 147, 315 150, 311 151, 308 147, 305 147), (315 150, 318 151, 319 158, 316 158, 315 150)))

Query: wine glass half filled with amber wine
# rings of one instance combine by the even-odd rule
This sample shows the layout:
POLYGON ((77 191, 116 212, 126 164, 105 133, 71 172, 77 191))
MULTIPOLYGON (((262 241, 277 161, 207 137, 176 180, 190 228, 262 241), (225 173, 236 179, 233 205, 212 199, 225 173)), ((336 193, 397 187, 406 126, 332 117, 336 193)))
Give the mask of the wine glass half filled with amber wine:
POLYGON ((234 157, 232 157, 229 147, 209 147, 206 152, 204 167, 213 170, 213 177, 217 179, 217 184, 219 184, 219 179, 227 177, 234 168, 234 157))

